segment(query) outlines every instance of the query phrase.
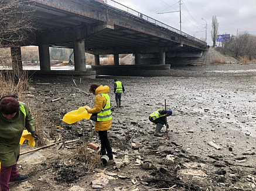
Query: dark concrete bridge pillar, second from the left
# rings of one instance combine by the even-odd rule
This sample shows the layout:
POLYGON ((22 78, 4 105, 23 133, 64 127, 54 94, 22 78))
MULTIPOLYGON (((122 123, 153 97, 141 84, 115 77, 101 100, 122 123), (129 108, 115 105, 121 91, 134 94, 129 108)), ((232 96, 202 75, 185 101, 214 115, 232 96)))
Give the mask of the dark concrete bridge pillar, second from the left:
POLYGON ((49 44, 39 44, 40 70, 50 70, 49 44))

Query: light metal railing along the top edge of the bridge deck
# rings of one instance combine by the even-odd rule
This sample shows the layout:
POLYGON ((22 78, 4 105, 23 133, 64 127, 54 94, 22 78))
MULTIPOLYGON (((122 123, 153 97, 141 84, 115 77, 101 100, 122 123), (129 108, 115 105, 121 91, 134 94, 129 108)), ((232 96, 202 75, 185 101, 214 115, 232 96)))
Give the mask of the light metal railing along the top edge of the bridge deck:
POLYGON ((175 29, 175 28, 173 28, 173 27, 171 27, 169 25, 166 25, 165 23, 162 23, 159 20, 153 19, 150 16, 146 16, 143 13, 135 11, 134 9, 128 8, 128 6, 122 5, 122 4, 120 4, 120 3, 118 3, 118 2, 116 2, 114 0, 105 0, 105 3, 107 3, 110 6, 113 6, 114 8, 121 9, 122 11, 131 13, 132 15, 135 15, 135 16, 138 16, 141 19, 145 19, 146 21, 151 22, 151 23, 153 23, 155 25, 158 25, 158 26, 164 27, 164 28, 166 28, 168 30, 171 30, 172 32, 181 34, 182 36, 186 37, 187 39, 194 40, 194 41, 197 41, 199 43, 207 45, 206 42, 204 42, 202 40, 199 40, 196 37, 193 37, 193 36, 191 36, 191 35, 189 35, 187 33, 184 33, 184 32, 180 32, 180 30, 178 30, 178 29, 175 29))

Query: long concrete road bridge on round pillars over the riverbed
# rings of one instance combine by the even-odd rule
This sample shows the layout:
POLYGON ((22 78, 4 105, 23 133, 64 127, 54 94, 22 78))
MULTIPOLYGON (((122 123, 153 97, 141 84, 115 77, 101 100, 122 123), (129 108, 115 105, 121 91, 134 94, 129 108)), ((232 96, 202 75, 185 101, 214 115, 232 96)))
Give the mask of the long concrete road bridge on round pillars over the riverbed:
MULTIPOLYGON (((74 72, 88 76, 95 71, 86 71, 85 53, 94 54, 98 74, 125 75, 127 70, 168 70, 172 58, 200 57, 207 50, 204 41, 112 0, 34 1, 40 30, 22 46, 39 47, 41 73, 50 74, 49 47, 73 48, 74 72), (114 66, 100 65, 102 54, 113 54, 114 66), (119 54, 134 54, 135 65, 120 65, 119 54)), ((12 55, 21 54, 20 48, 11 50, 12 55)))

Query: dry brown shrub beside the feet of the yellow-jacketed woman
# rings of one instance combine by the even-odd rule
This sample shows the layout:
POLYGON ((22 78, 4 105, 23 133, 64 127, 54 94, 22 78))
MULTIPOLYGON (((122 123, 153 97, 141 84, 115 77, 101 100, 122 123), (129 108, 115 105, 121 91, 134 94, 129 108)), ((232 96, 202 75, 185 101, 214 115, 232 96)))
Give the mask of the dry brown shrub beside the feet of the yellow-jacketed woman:
POLYGON ((94 167, 101 165, 100 155, 97 152, 91 153, 86 144, 78 146, 76 151, 73 152, 72 158, 94 167))

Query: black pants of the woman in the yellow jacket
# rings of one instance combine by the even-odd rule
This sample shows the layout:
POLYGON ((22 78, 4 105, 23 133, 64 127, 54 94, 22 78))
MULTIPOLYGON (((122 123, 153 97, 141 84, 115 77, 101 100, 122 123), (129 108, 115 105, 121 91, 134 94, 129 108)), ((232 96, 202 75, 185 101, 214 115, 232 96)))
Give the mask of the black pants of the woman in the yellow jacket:
POLYGON ((101 142, 101 154, 105 155, 107 151, 108 158, 113 159, 110 141, 108 141, 108 131, 98 131, 101 142))

